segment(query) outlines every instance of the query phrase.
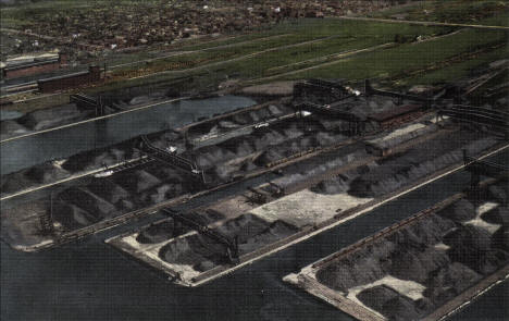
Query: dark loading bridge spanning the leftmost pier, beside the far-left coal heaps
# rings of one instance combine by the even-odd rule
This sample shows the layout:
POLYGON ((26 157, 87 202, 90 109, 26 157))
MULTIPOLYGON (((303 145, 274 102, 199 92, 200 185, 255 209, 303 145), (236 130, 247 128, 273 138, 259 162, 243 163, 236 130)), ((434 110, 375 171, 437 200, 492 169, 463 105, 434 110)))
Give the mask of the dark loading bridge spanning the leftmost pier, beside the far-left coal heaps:
POLYGON ((141 136, 141 151, 150 158, 184 171, 187 174, 199 178, 202 183, 206 183, 203 171, 199 169, 195 162, 178 156, 176 152, 170 152, 153 146, 146 135, 141 136))

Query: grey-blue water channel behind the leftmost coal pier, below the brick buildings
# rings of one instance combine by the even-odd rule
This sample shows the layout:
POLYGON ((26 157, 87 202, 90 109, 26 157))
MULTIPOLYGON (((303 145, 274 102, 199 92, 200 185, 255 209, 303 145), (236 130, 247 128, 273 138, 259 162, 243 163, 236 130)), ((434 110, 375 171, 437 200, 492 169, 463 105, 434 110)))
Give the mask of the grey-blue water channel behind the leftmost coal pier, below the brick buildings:
POLYGON ((132 137, 174 128, 202 116, 254 104, 239 96, 183 100, 88 122, 0 145, 0 172, 8 174, 48 160, 110 146, 132 137))

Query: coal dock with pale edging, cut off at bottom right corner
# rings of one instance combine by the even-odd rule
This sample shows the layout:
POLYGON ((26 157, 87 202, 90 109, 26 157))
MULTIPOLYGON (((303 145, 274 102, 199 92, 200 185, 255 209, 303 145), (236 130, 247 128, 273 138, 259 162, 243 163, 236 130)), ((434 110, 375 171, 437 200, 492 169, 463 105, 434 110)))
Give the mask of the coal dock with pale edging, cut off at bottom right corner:
POLYGON ((285 281, 358 320, 443 320, 509 277, 501 175, 473 181, 285 281))

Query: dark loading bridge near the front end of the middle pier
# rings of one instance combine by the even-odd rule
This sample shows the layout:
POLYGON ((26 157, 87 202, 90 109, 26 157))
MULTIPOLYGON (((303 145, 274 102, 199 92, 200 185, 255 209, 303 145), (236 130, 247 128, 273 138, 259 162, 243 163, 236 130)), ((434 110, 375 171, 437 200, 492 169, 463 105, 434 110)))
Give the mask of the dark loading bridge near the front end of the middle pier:
POLYGON ((234 239, 229 238, 228 236, 220 233, 216 230, 212 230, 207 225, 202 224, 201 222, 195 221, 191 218, 177 212, 171 209, 163 209, 162 212, 171 217, 173 220, 178 221, 181 223, 186 224, 187 226, 191 227, 196 232, 207 235, 208 237, 212 238, 213 240, 218 242, 219 244, 223 245, 226 248, 226 256, 231 263, 236 264, 239 261, 238 258, 238 236, 235 236, 234 239))

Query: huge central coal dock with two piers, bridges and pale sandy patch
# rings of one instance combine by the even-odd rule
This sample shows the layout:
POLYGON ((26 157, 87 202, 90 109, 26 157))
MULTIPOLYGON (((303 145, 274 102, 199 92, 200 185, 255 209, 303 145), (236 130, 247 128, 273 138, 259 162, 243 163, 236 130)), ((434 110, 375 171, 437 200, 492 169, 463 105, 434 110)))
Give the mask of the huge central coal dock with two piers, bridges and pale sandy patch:
POLYGON ((465 118, 445 91, 361 89, 300 82, 291 97, 2 175, 2 239, 34 251, 157 214, 107 242, 197 286, 462 169, 465 153, 507 148, 504 110, 465 118))

